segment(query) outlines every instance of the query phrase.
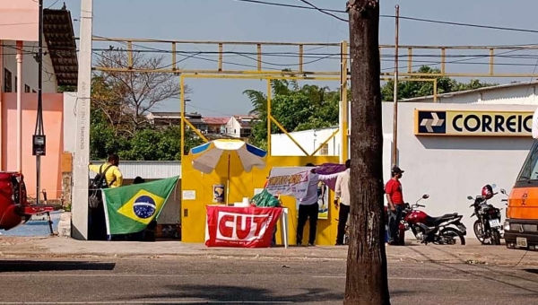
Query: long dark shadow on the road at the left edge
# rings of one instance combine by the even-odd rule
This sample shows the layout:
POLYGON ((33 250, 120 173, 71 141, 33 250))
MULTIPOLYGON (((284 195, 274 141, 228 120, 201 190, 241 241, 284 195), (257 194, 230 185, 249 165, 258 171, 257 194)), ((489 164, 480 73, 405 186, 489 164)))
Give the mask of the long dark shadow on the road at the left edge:
POLYGON ((47 260, 0 260, 0 273, 74 270, 113 270, 115 263, 47 261, 47 260))

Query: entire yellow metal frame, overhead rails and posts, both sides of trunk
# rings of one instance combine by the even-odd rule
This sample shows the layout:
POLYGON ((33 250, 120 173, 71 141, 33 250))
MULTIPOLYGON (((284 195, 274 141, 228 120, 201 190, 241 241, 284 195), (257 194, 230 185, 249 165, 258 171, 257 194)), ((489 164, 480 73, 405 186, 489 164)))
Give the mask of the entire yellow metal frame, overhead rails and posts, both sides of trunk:
MULTIPOLYGON (((227 78, 227 79, 264 79, 267 82, 267 144, 269 147, 269 154, 271 154, 271 134, 272 134, 272 125, 275 124, 278 128, 288 135, 291 141, 298 145, 299 149, 305 153, 307 156, 316 154, 324 144, 330 141, 339 131, 344 130, 346 132, 341 133, 342 136, 342 147, 340 152, 340 159, 344 161, 348 158, 349 155, 349 113, 350 113, 350 103, 347 99, 348 92, 348 80, 350 79, 349 74, 349 54, 350 48, 347 41, 342 41, 340 43, 300 43, 300 42, 263 42, 263 41, 204 41, 204 40, 165 40, 165 39, 129 39, 129 38, 102 38, 102 37, 93 37, 93 41, 106 41, 106 42, 117 42, 126 46, 125 51, 127 52, 127 65, 123 67, 107 67, 107 66, 93 66, 92 70, 101 71, 101 72, 143 72, 143 73, 172 73, 178 74, 180 78, 180 107, 181 107, 181 152, 184 153, 184 136, 185 136, 185 127, 189 126, 200 138, 204 141, 207 141, 207 138, 200 133, 195 126, 193 126, 185 117, 185 79, 187 78, 204 78, 204 79, 216 79, 216 78, 227 78), (168 45, 168 48, 153 48, 147 47, 143 44, 165 44, 168 45), (209 46, 212 49, 215 49, 213 52, 218 59, 215 60, 216 66, 213 69, 182 69, 178 67, 178 54, 181 54, 178 51, 178 46, 209 46), (253 54, 256 56, 256 69, 254 70, 232 70, 225 69, 224 65, 227 64, 224 60, 227 51, 224 50, 225 46, 234 46, 234 47, 253 47, 256 48, 256 52, 253 54), (309 48, 338 48, 334 56, 340 57, 340 69, 339 71, 315 71, 315 70, 306 70, 305 69, 305 57, 308 57, 308 51, 305 51, 305 47, 309 48), (298 58, 296 64, 297 68, 293 70, 268 70, 264 69, 264 52, 266 48, 296 48, 297 53, 294 53, 298 58), (141 49, 146 49, 149 52, 160 52, 170 54, 171 56, 171 65, 167 65, 161 68, 155 69, 140 69, 133 66, 133 52, 140 51, 141 49), (300 75, 300 76, 298 76, 300 75), (322 144, 317 147, 313 153, 308 153, 294 138, 293 136, 285 130, 285 128, 271 115, 271 80, 275 79, 288 79, 288 80, 311 80, 311 81, 339 81, 340 82, 340 118, 339 118, 339 127, 329 136, 322 144)), ((198 47, 196 47, 198 48, 198 47)), ((434 101, 438 100, 438 77, 448 76, 448 77, 533 77, 538 76, 538 74, 506 74, 506 73, 496 73, 494 69, 496 54, 497 51, 502 50, 503 53, 516 52, 520 50, 534 50, 538 49, 538 46, 395 46, 395 45, 381 45, 379 47, 380 57, 383 58, 383 54, 386 53, 386 50, 391 50, 394 52, 391 55, 386 55, 387 57, 393 57, 395 48, 406 49, 407 54, 402 57, 406 57, 407 62, 407 71, 399 72, 398 76, 405 77, 401 79, 401 82, 431 82, 433 83, 433 99, 434 101), (423 55, 413 55, 420 53, 424 50, 432 50, 438 53, 438 58, 440 61, 437 63, 440 65, 439 72, 437 73, 419 73, 413 72, 413 58, 421 57, 423 55), (447 51, 487 51, 488 54, 479 56, 480 58, 488 57, 489 62, 489 71, 487 73, 458 73, 458 72, 448 72, 447 65, 453 62, 447 61, 449 57, 447 51), (416 52, 415 52, 416 51, 416 52), (508 52, 507 52, 508 51, 508 52)), ((404 60, 403 60, 404 61, 404 60)), ((426 64, 425 64, 426 65, 426 64)), ((381 73, 382 81, 393 80, 395 72, 384 72, 381 73)))

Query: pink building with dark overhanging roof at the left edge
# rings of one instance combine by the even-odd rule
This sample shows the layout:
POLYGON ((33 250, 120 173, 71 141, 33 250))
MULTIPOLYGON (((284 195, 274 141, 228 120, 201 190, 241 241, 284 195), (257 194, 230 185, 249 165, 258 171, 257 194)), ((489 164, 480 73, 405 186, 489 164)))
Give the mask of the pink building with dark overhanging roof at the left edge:
MULTIPOLYGON (((28 195, 36 197, 36 157, 31 140, 37 117, 39 8, 34 0, 0 1, 0 170, 18 170, 17 81, 22 87, 22 173, 28 195), (22 73, 17 74, 17 57, 22 73)), ((48 199, 62 195, 64 149, 64 94, 59 86, 76 86, 78 62, 71 13, 43 11, 43 121, 47 155, 41 158, 41 189, 48 199)), ((73 115, 71 112, 71 115, 73 115)))

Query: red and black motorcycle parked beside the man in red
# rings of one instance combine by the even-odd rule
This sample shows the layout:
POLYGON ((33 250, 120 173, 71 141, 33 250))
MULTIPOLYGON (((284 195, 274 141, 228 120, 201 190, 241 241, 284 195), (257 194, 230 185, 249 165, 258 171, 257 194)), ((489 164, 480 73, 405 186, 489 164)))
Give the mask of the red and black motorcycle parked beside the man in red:
POLYGON ((419 205, 422 199, 430 196, 424 194, 414 205, 405 204, 403 221, 405 230, 410 230, 415 238, 423 244, 433 243, 436 245, 455 245, 459 240, 461 245, 465 244, 467 228, 461 222, 463 215, 458 213, 446 213, 440 217, 431 217, 417 208, 426 207, 419 205))

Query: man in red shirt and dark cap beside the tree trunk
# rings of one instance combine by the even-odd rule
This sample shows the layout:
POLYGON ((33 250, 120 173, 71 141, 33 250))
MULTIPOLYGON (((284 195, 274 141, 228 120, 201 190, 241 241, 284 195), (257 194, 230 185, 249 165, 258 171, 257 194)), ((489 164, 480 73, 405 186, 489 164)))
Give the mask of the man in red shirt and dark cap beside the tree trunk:
POLYGON ((398 230, 404 208, 404 195, 402 193, 402 174, 404 170, 395 166, 392 169, 392 179, 386 182, 385 193, 388 201, 388 244, 398 244, 398 230))

